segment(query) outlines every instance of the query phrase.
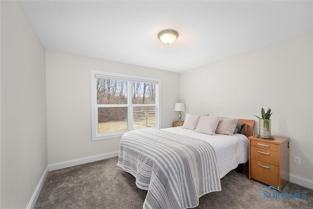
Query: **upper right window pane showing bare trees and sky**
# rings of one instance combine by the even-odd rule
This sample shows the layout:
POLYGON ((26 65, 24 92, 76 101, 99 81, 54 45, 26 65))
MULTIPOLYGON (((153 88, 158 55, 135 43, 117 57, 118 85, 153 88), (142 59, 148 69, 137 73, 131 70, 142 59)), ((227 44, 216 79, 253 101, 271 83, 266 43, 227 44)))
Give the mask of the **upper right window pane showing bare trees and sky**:
POLYGON ((133 104, 155 104, 156 84, 132 82, 133 104))

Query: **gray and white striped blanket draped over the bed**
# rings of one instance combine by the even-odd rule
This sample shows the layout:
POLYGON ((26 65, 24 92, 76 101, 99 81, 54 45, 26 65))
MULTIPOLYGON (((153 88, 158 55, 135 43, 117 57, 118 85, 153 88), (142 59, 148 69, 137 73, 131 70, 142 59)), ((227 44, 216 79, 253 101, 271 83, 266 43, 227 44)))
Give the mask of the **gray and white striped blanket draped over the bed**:
POLYGON ((125 133, 117 165, 148 190, 144 209, 194 208, 203 194, 221 190, 213 147, 163 130, 125 133))

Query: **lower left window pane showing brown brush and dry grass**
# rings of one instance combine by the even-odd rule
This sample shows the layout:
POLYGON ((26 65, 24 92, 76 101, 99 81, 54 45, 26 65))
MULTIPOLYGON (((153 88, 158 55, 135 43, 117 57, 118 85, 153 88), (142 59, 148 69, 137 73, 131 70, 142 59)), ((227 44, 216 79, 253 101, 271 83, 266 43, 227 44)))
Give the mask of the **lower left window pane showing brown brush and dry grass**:
POLYGON ((101 107, 98 108, 98 133, 113 131, 126 131, 127 107, 101 107))

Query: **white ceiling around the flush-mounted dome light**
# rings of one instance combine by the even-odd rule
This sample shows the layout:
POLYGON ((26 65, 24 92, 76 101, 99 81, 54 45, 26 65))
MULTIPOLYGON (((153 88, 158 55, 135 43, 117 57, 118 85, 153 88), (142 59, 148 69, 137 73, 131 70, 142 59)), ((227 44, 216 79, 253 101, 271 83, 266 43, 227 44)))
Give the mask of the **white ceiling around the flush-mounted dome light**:
POLYGON ((21 0, 48 50, 181 72, 313 26, 313 1, 21 0), (178 39, 157 34, 175 29, 178 39))

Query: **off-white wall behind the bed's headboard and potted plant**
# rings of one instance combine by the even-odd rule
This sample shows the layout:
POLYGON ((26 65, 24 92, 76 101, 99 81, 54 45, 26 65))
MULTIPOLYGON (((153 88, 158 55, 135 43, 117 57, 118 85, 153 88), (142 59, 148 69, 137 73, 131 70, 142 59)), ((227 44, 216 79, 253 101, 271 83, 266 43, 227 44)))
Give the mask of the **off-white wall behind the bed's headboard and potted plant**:
POLYGON ((290 137, 290 173, 313 180, 312 32, 179 74, 191 114, 256 120, 271 108, 273 135, 290 137), (293 163, 301 158, 301 165, 293 163))

